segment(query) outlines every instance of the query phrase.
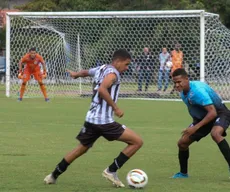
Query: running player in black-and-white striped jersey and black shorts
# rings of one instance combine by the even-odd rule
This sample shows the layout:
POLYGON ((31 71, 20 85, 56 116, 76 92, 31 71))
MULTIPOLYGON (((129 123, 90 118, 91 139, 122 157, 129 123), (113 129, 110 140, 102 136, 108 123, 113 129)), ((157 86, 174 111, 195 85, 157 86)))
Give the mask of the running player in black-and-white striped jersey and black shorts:
POLYGON ((55 170, 44 179, 46 184, 54 184, 60 174, 78 157, 88 151, 94 142, 103 136, 108 141, 118 140, 127 146, 114 159, 103 172, 103 177, 114 183, 117 187, 125 185, 117 177, 117 170, 139 150, 143 144, 142 139, 134 131, 114 121, 113 113, 122 117, 124 112, 116 104, 119 94, 120 73, 128 69, 131 56, 125 49, 114 52, 111 65, 102 65, 79 72, 68 71, 72 78, 93 77, 93 96, 85 123, 77 136, 80 144, 69 152, 56 166, 55 170))

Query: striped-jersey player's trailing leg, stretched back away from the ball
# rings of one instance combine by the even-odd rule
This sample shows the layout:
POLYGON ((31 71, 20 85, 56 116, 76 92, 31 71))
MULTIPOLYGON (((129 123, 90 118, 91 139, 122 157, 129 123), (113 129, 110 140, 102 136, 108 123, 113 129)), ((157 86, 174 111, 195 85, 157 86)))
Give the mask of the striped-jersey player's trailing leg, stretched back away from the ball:
POLYGON ((95 132, 95 129, 92 126, 92 124, 85 123, 77 136, 77 139, 80 141, 80 144, 65 155, 65 157, 57 164, 54 171, 45 177, 44 182, 46 184, 55 184, 57 178, 67 170, 68 166, 75 159, 86 153, 88 149, 93 146, 93 143, 99 137, 100 135, 98 135, 95 132))

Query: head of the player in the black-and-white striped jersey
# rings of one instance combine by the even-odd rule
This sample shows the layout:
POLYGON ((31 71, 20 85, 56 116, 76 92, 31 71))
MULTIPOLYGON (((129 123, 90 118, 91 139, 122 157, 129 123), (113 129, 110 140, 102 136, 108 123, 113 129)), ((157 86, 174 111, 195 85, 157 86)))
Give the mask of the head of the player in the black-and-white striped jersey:
POLYGON ((131 62, 131 55, 125 49, 118 49, 113 53, 112 65, 120 72, 124 72, 128 69, 131 62))

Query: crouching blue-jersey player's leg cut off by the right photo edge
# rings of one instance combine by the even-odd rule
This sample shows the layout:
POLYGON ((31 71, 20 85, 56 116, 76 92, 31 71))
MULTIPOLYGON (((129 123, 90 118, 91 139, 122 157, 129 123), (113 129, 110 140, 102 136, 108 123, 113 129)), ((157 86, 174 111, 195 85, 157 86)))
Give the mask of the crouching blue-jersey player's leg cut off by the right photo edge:
POLYGON ((226 130, 230 124, 230 117, 221 116, 217 118, 211 130, 212 139, 217 143, 221 153, 228 163, 230 170, 230 148, 228 142, 225 140, 226 130))

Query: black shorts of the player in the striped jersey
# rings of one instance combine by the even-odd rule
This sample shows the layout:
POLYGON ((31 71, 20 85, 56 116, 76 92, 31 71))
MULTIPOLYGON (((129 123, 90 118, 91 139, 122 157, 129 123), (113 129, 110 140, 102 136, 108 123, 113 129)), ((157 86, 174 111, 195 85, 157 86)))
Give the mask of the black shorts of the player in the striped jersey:
POLYGON ((85 122, 80 133, 76 137, 82 145, 92 147, 93 143, 103 136, 108 141, 117 140, 125 130, 125 126, 117 122, 96 125, 85 122))

